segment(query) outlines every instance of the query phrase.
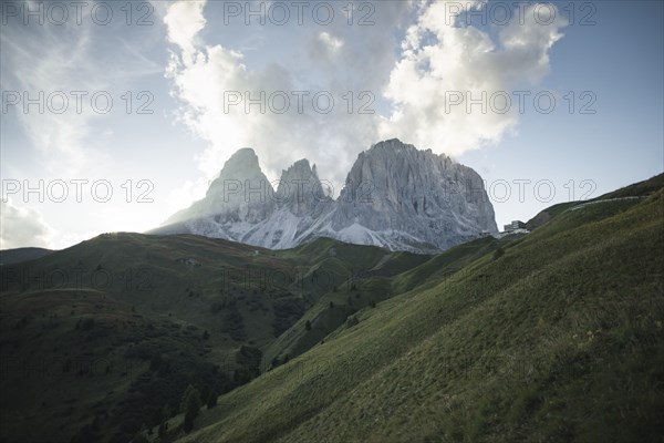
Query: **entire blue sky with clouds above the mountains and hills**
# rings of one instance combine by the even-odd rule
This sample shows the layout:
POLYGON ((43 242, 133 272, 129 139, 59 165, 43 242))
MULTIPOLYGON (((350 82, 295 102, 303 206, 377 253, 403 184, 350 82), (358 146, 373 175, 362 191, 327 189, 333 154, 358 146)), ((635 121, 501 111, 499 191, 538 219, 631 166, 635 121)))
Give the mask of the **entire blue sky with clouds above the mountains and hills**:
POLYGON ((662 1, 3 1, 0 248, 145 231, 252 147, 339 195, 398 137, 499 227, 664 171, 662 1))

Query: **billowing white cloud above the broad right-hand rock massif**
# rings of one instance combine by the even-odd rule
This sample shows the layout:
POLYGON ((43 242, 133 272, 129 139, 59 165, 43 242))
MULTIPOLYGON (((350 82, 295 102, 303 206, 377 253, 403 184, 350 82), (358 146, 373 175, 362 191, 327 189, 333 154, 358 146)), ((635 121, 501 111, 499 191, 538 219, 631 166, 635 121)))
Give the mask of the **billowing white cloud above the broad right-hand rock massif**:
MULTIPOLYGON (((526 9, 522 24, 512 19, 495 42, 487 32, 450 20, 446 2, 426 7, 408 29, 402 59, 384 90, 394 107, 381 125, 381 137, 406 138, 421 148, 448 155, 500 142, 516 127, 518 106, 512 102, 509 112, 494 112, 490 97, 505 91, 516 101, 512 87, 539 82, 549 72, 549 50, 567 24, 560 14, 549 25, 537 23, 533 8, 536 4, 526 9), (468 97, 486 103, 486 112, 480 105, 468 109, 468 97), (461 103, 454 104, 459 100, 461 103)), ((498 102, 494 104, 501 111, 504 99, 495 97, 498 102)))

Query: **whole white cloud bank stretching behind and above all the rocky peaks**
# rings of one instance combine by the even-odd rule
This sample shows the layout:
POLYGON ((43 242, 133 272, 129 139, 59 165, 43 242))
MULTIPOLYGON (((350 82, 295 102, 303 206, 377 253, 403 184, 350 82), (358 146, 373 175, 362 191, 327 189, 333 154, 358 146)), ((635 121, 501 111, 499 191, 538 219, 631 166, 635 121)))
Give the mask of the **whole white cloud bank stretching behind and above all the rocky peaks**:
MULTIPOLYGON (((173 17, 165 23, 169 41, 177 47, 166 74, 181 105, 179 121, 209 143, 197 156, 207 179, 245 146, 257 151, 270 178, 278 178, 281 168, 295 159, 308 157, 319 164, 321 177, 339 186, 356 154, 380 140, 398 137, 448 155, 497 143, 516 128, 518 113, 468 113, 464 105, 447 112, 445 93, 468 91, 477 97, 483 91, 490 95, 520 82, 539 81, 549 71, 548 51, 566 24, 561 19, 551 25, 538 24, 527 10, 529 19, 523 24, 512 22, 492 38, 473 25, 449 22, 445 2, 383 2, 375 17, 382 20, 374 27, 343 22, 324 31, 315 25, 294 28, 298 38, 292 42, 301 42, 300 47, 276 48, 277 52, 262 48, 264 53, 259 58, 252 54, 250 63, 246 54, 224 43, 206 44, 200 38, 205 3, 184 7, 181 2, 186 1, 173 3, 165 13, 173 17), (183 8, 183 20, 189 24, 176 34, 174 28, 180 21, 175 17, 183 8), (405 29, 397 55, 398 24, 412 14, 415 24, 405 29), (309 91, 304 112, 295 112, 292 95, 283 114, 269 105, 264 113, 259 105, 246 112, 245 94, 256 100, 263 92, 262 101, 269 104, 276 91, 309 91), (312 110, 311 96, 321 91, 335 94, 330 114, 312 110), (354 95, 350 114, 342 97, 347 91, 354 95), (364 103, 359 97, 362 91, 374 93, 370 106, 374 114, 357 113, 364 103), (231 99, 229 93, 239 94, 232 97, 241 99, 239 105, 225 105, 231 99)), ((478 8, 483 3, 464 4, 478 8)), ((212 31, 206 38, 211 38, 212 31)))

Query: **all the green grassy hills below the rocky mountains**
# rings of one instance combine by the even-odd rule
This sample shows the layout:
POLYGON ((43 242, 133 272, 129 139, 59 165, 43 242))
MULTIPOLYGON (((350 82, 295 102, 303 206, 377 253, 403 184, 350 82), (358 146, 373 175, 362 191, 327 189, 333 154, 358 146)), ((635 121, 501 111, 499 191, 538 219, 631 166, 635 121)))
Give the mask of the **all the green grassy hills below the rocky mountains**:
POLYGON ((437 256, 107 234, 0 266, 0 441, 662 442, 661 182, 437 256), (218 399, 185 433, 189 384, 218 399))

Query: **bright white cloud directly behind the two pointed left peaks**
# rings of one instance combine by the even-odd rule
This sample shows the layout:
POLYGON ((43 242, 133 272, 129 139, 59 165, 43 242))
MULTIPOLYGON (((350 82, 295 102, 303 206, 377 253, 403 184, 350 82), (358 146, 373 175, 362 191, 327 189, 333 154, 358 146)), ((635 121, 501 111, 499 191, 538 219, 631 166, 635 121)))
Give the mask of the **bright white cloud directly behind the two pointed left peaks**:
MULTIPOLYGON (((177 4, 174 3, 165 17, 174 13, 177 4)), ((166 24, 173 27, 176 22, 166 21, 166 24)), ((197 156, 206 178, 212 178, 235 151, 250 146, 257 151, 271 179, 279 178, 281 169, 294 161, 307 157, 321 165, 322 178, 339 183, 352 155, 375 142, 377 116, 349 114, 347 103, 342 97, 345 91, 340 93, 339 87, 320 84, 293 72, 292 66, 269 60, 260 69, 249 69, 243 54, 221 44, 199 44, 194 32, 188 35, 189 40, 177 41, 179 51, 173 54, 166 75, 173 81, 174 96, 181 103, 178 120, 209 143, 197 156), (184 56, 191 48, 195 50, 190 56, 184 56), (305 91, 301 107, 297 91, 305 91), (319 92, 333 96, 334 105, 329 114, 315 109, 313 96, 319 92), (238 99, 241 103, 232 105, 231 101, 238 99), (247 112, 246 99, 259 99, 263 109, 253 104, 247 112), (284 100, 289 105, 282 112, 284 100)), ((312 35, 321 42, 318 33, 312 35)), ((341 40, 331 34, 328 42, 336 49, 343 47, 341 40)), ((354 94, 353 105, 357 109, 357 92, 354 94)), ((324 95, 318 104, 325 107, 324 95)), ((188 190, 177 193, 183 195, 188 190)))

